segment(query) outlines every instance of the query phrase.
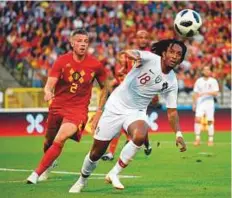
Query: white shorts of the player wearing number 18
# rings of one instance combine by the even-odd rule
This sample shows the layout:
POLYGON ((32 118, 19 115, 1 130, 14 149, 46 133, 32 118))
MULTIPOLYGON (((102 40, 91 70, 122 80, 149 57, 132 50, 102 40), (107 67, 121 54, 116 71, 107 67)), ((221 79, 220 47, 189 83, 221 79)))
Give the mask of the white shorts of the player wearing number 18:
POLYGON ((125 114, 115 114, 104 110, 94 132, 94 139, 109 141, 117 137, 122 128, 127 131, 129 125, 137 120, 144 120, 148 123, 146 111, 133 110, 125 114))

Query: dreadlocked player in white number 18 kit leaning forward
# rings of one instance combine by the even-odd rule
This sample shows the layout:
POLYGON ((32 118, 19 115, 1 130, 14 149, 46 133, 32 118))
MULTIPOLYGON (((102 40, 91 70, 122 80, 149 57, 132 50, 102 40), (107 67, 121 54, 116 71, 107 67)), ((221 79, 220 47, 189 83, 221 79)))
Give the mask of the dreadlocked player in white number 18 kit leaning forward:
POLYGON ((125 80, 111 93, 95 130, 91 151, 84 159, 81 176, 70 188, 70 193, 79 193, 85 187, 98 160, 122 127, 131 140, 123 147, 119 160, 105 179, 116 189, 124 189, 118 174, 132 161, 144 143, 148 133, 146 109, 156 94, 161 94, 166 101, 168 121, 176 134, 176 145, 181 146, 181 152, 186 151, 179 126, 178 86, 173 71, 183 61, 186 50, 183 42, 168 39, 152 44, 151 52, 124 51, 136 63, 125 80))

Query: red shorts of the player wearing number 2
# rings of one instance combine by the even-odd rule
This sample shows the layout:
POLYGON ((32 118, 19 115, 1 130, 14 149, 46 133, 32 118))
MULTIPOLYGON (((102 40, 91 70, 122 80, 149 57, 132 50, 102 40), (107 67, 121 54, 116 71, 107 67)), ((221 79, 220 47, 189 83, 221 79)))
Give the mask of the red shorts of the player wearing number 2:
POLYGON ((78 111, 76 111, 75 113, 70 113, 65 110, 61 110, 60 112, 49 110, 45 137, 53 141, 60 129, 60 126, 63 123, 69 122, 75 124, 78 128, 77 132, 73 134, 73 136, 70 138, 79 142, 87 120, 87 112, 79 113, 78 111))

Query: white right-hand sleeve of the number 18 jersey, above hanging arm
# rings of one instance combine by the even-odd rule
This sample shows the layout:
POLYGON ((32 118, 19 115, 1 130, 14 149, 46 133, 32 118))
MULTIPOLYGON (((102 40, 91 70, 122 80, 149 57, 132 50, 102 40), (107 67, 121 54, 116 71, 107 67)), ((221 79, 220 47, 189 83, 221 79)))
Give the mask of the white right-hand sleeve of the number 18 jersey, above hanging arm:
POLYGON ((164 98, 167 108, 177 108, 177 94, 177 88, 161 94, 164 98))

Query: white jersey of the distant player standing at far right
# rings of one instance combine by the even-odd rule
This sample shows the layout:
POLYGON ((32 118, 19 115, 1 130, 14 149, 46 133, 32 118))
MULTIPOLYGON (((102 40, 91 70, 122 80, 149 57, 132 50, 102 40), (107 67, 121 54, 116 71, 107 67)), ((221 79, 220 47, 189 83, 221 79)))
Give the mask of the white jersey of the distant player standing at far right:
MULTIPOLYGON (((194 92, 207 93, 219 91, 218 82, 215 78, 209 77, 207 80, 200 77, 194 84, 194 92)), ((203 95, 197 99, 197 105, 214 105, 214 97, 212 95, 203 95)))

